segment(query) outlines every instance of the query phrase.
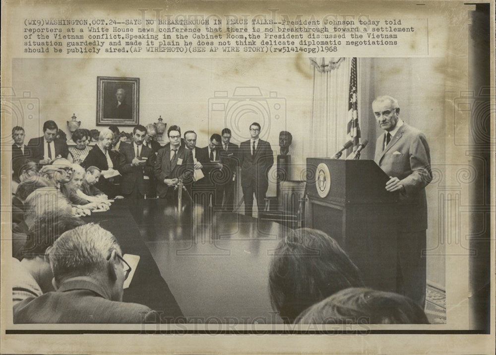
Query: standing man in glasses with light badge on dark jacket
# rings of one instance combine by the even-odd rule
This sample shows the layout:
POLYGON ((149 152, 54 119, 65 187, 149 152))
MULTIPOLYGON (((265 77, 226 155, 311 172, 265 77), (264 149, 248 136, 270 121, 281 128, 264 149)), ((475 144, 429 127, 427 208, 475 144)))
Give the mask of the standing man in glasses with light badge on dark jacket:
POLYGON ((172 203, 177 201, 179 179, 185 186, 191 184, 193 176, 193 156, 189 149, 181 146, 181 128, 172 125, 167 131, 169 144, 159 149, 155 161, 157 193, 172 203))

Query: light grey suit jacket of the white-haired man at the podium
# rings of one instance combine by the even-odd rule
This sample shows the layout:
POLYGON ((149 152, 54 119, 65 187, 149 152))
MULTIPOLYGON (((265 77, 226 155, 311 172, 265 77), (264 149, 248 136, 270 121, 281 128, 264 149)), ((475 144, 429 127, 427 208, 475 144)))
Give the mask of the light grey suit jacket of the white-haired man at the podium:
POLYGON ((425 187, 432 181, 431 156, 426 136, 406 123, 382 150, 384 134, 375 143, 375 163, 391 177, 401 180, 398 230, 418 232, 427 229, 425 187))

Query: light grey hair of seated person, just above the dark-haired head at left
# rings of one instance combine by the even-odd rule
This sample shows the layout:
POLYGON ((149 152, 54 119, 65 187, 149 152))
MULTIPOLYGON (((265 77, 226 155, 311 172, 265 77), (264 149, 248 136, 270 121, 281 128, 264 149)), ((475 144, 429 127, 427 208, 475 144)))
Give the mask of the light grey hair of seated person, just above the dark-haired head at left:
POLYGON ((55 187, 41 187, 26 198, 26 217, 36 219, 48 213, 71 213, 69 201, 55 187))

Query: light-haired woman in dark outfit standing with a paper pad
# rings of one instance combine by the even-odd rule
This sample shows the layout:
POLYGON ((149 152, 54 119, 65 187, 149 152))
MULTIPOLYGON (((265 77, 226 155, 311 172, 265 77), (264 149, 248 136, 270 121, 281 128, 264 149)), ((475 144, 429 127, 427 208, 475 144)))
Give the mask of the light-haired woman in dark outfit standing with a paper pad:
POLYGON ((120 193, 119 164, 121 155, 119 152, 110 149, 114 133, 110 129, 103 129, 98 137, 98 142, 90 150, 84 161, 83 168, 97 167, 102 171, 96 187, 103 191, 109 198, 114 198, 120 193))

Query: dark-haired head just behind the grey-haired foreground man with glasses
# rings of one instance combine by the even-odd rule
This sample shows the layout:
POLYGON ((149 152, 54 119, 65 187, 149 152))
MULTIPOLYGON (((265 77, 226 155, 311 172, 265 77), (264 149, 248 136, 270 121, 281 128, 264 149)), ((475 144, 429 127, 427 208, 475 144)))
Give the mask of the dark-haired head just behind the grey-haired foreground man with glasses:
POLYGON ((29 228, 29 236, 19 250, 20 258, 44 255, 55 240, 65 231, 82 226, 84 222, 68 211, 48 210, 39 215, 29 228))

